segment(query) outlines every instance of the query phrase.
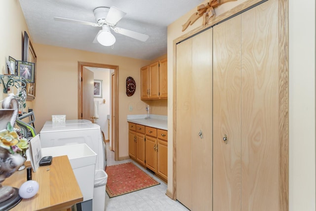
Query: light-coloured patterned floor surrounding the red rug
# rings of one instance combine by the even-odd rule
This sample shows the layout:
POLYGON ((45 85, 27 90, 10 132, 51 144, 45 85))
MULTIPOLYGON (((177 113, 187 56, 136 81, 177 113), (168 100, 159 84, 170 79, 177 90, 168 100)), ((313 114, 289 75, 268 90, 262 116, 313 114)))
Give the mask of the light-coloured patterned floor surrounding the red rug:
POLYGON ((160 184, 122 196, 113 197, 111 199, 108 194, 106 194, 106 211, 189 211, 182 204, 165 195, 167 185, 154 176, 150 171, 140 167, 136 162, 131 160, 114 161, 113 151, 107 150, 107 156, 108 166, 133 162, 140 169, 154 177, 160 184))

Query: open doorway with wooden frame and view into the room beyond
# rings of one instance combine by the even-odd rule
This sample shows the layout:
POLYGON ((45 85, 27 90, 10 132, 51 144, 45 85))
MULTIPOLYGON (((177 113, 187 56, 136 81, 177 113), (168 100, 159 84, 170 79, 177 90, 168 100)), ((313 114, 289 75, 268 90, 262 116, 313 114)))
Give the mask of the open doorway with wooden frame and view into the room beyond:
POLYGON ((115 151, 115 160, 118 160, 118 66, 78 62, 78 77, 78 119, 82 119, 82 117, 89 119, 100 125, 103 131, 109 131, 107 133, 109 135, 105 134, 105 139, 110 140, 109 149, 115 151), (86 80, 88 77, 86 72, 91 72, 95 76, 86 80), (96 84, 106 86, 108 90, 99 90, 97 95, 92 96, 91 99, 85 90, 87 90, 87 86, 90 86, 88 95, 91 95, 90 90, 94 86, 94 80, 96 80, 96 84), (86 106, 87 104, 88 106, 86 106), (93 107, 93 109, 89 110, 86 107, 93 107), (100 108, 102 108, 102 112, 100 108), (96 115, 98 119, 95 118, 96 115), (108 123, 110 123, 110 127, 108 123))

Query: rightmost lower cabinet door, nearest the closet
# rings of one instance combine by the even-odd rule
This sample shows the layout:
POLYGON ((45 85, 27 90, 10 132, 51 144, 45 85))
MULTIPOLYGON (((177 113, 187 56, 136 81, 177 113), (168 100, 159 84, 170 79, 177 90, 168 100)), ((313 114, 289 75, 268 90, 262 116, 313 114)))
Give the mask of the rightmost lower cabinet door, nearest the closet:
POLYGON ((168 180, 168 142, 157 139, 157 175, 168 180))

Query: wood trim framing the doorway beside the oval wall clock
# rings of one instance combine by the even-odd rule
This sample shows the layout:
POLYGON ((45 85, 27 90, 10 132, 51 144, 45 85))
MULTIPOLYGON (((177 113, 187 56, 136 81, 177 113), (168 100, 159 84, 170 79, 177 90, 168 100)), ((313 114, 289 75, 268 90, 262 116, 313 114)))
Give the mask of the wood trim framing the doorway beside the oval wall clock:
POLYGON ((93 67, 93 68, 106 68, 114 70, 114 74, 111 79, 111 140, 112 148, 115 149, 114 159, 118 160, 119 148, 118 148, 118 66, 108 65, 108 64, 97 64, 89 62, 78 62, 78 119, 82 119, 83 113, 83 96, 82 96, 82 80, 83 80, 83 67, 93 67))

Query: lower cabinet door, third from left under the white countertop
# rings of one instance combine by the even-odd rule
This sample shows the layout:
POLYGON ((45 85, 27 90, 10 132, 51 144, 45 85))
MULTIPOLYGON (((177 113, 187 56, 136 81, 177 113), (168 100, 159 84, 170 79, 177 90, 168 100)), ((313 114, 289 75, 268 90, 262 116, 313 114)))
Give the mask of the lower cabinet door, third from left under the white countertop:
POLYGON ((146 136, 146 167, 156 172, 156 147, 157 138, 146 136))

